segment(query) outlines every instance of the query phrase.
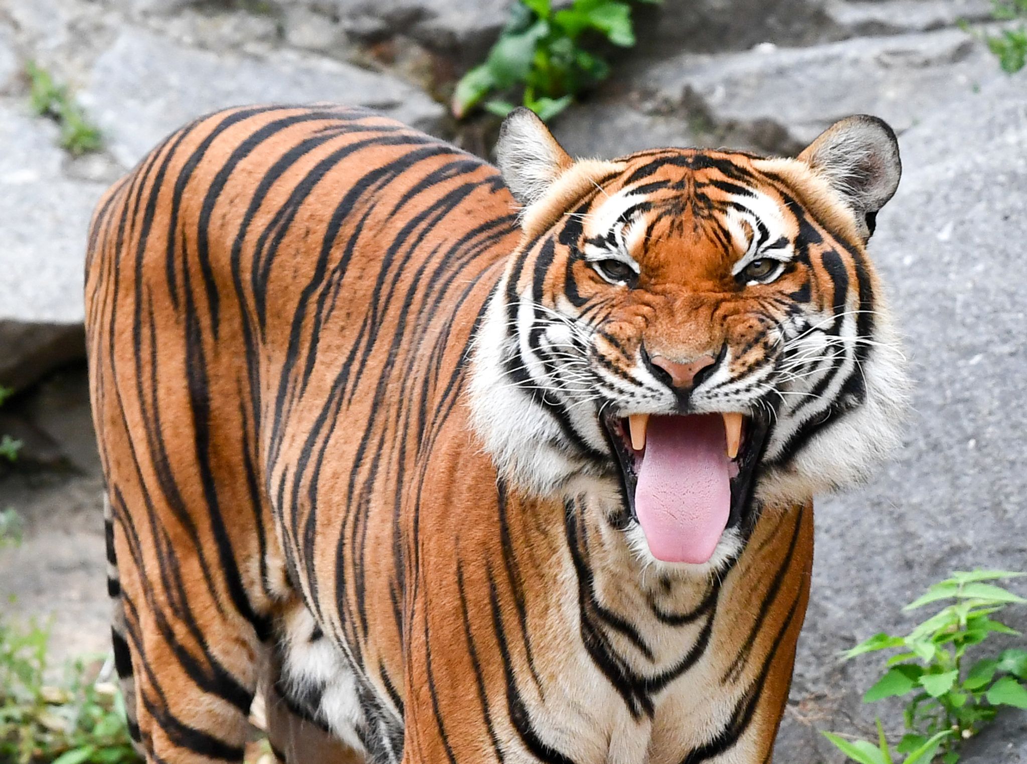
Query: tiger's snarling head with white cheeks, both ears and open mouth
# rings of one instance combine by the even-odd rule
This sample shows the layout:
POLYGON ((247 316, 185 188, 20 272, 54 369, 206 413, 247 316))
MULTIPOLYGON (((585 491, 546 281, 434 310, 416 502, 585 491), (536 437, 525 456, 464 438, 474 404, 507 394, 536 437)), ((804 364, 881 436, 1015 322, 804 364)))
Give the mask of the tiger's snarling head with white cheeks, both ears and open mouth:
POLYGON ((575 161, 519 109, 497 151, 523 239, 470 402, 510 484, 605 496, 643 557, 715 565, 762 509, 899 444, 909 383, 865 250, 901 174, 883 121, 843 119, 794 159, 575 161))

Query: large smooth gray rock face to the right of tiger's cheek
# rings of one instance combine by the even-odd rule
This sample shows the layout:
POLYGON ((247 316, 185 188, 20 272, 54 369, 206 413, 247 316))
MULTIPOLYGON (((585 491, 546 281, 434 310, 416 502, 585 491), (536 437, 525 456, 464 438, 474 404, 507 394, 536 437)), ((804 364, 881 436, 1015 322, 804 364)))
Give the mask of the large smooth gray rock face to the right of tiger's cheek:
MULTIPOLYGON (((873 729, 880 712, 859 697, 879 662, 839 664, 838 651, 914 623, 899 605, 952 570, 1027 568, 1025 93, 1027 71, 1002 77, 900 139, 905 177, 871 253, 908 336, 916 416, 877 480, 817 506, 812 598, 777 746, 785 764, 843 761, 815 730, 873 729)), ((1011 616, 1027 626, 1023 608, 1011 616)), ((1023 714, 1003 715, 962 764, 1027 761, 1023 714)))

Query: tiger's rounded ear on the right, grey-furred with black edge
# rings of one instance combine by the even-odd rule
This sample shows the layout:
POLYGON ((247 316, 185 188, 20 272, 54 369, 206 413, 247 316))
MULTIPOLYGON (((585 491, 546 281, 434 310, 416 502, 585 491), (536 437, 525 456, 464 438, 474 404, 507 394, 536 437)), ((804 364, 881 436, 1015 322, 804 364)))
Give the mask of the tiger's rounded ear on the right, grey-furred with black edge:
POLYGON ((899 142, 887 122, 859 114, 835 122, 798 157, 823 177, 855 217, 864 241, 877 211, 899 187, 899 142))

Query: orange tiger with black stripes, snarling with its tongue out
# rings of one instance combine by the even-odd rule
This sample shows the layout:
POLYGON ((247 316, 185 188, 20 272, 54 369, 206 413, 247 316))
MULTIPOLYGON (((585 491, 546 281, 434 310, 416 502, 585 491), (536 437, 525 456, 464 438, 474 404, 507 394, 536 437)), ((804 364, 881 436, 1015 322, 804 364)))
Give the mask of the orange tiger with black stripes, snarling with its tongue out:
POLYGON ((89 391, 148 762, 239 762, 261 706, 290 764, 771 760, 812 497, 901 443, 867 255, 896 136, 574 159, 518 109, 496 157, 237 107, 100 200, 89 391))

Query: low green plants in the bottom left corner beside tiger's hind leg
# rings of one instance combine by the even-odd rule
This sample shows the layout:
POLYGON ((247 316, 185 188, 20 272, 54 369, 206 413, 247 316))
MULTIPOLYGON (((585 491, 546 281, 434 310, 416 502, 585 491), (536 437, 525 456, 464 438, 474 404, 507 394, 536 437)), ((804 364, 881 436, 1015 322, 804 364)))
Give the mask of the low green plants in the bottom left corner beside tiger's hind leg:
POLYGON ((129 764, 139 756, 116 688, 76 661, 45 683, 49 633, 0 620, 0 761, 9 764, 129 764))

